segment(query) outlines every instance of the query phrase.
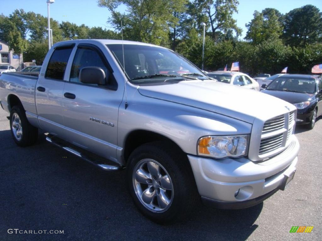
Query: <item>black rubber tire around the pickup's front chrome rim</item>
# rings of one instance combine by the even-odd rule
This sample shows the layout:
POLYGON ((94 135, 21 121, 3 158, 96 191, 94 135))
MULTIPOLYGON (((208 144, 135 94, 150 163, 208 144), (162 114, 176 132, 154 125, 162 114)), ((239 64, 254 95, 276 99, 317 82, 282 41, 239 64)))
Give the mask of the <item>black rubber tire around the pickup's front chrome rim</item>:
MULTIPOLYGON (((153 179, 151 180, 153 181, 153 179)), ((182 221, 192 212, 200 197, 187 157, 182 151, 173 148, 172 145, 168 145, 165 142, 147 143, 137 147, 132 152, 128 159, 127 183, 131 197, 138 210, 158 224, 182 221), (170 192, 173 192, 173 197, 171 196, 172 201, 165 211, 152 211, 142 203, 136 194, 137 189, 135 188, 135 180, 133 178, 134 170, 137 170, 137 165, 140 165, 145 159, 153 159, 158 162, 170 176, 170 182, 173 185, 173 191, 170 192)), ((157 199, 157 196, 155 198, 157 199)))

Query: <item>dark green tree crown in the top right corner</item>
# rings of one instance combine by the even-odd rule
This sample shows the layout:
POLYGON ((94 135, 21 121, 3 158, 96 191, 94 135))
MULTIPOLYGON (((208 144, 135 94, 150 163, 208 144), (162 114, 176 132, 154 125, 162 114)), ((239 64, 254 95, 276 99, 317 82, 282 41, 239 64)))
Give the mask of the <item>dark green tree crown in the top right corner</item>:
POLYGON ((285 14, 283 39, 291 46, 305 46, 322 40, 322 12, 305 5, 285 14))

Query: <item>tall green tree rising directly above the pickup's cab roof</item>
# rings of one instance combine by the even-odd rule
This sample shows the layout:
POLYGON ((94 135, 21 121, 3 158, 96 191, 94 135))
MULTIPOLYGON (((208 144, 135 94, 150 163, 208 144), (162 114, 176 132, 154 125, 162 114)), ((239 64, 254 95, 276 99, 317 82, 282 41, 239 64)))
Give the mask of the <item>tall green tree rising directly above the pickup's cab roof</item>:
POLYGON ((174 12, 182 12, 185 0, 99 0, 100 7, 111 13, 109 22, 121 31, 126 40, 168 44, 169 23, 176 22, 174 12), (119 5, 127 7, 127 13, 118 12, 119 5))

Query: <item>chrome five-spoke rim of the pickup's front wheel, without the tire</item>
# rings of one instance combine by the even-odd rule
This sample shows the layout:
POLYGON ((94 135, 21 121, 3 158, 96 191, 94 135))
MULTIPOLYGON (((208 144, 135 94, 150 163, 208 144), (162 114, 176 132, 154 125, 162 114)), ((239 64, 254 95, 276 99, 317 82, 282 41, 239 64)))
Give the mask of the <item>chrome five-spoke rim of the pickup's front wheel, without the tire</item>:
POLYGON ((174 192, 166 169, 153 159, 142 159, 133 170, 133 187, 137 198, 152 212, 165 212, 172 203, 174 192))

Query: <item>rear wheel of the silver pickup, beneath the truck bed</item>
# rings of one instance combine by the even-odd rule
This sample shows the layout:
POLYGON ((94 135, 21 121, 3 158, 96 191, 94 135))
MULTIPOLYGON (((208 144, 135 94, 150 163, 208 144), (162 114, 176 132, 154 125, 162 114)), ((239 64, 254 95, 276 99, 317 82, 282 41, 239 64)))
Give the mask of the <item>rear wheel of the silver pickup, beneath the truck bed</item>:
POLYGON ((10 131, 11 135, 14 138, 14 142, 20 147, 27 147, 33 145, 38 138, 38 129, 32 126, 27 120, 26 113, 22 106, 14 106, 10 112, 10 131), (17 116, 19 119, 17 119, 17 116), (15 120, 20 123, 21 132, 19 132, 19 137, 17 136, 17 131, 14 129, 13 123, 16 123, 15 120), (21 134, 21 135, 20 135, 21 134))

